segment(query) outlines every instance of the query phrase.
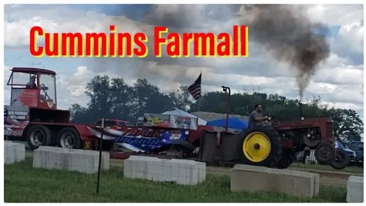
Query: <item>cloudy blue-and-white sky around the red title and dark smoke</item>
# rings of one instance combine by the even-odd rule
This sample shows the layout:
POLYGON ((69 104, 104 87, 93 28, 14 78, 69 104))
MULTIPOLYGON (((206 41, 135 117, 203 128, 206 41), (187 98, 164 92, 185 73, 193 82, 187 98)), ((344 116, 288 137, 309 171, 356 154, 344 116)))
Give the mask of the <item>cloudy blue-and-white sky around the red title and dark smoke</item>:
MULTIPOLYGON (((351 108, 363 118, 363 5, 300 5, 309 23, 322 23, 330 45, 328 58, 318 65, 304 92, 305 99, 320 95, 323 103, 351 108)), ((59 108, 73 103, 85 106, 86 82, 97 74, 123 77, 128 84, 147 78, 164 91, 191 84, 202 71, 202 89, 221 85, 241 92, 259 87, 266 93, 299 98, 294 69, 250 41, 247 58, 162 58, 153 56, 153 28, 170 32, 231 32, 240 19, 250 21, 240 5, 5 5, 5 83, 12 67, 45 67, 55 70, 59 108), (29 30, 45 32, 145 32, 147 58, 36 58, 29 52, 29 30)), ((304 18, 305 19, 305 18, 304 18)), ((305 20, 304 20, 305 21, 305 20)), ((243 21, 241 21, 243 22, 243 21)), ((245 23, 245 21, 244 21, 245 23)), ((249 27, 250 29, 250 27, 249 27)), ((250 38, 250 37, 249 37, 250 38)), ((192 48, 191 48, 192 49, 192 48)), ((10 88, 4 86, 4 103, 10 88)))

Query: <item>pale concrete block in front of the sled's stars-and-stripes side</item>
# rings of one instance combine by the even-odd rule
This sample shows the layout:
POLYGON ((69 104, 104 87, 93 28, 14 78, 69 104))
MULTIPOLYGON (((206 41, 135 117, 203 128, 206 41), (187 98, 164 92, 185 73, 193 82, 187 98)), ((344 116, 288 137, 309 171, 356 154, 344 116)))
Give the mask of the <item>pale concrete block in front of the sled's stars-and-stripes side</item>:
POLYGON ((206 180, 206 163, 132 155, 124 160, 124 177, 196 185, 206 180))

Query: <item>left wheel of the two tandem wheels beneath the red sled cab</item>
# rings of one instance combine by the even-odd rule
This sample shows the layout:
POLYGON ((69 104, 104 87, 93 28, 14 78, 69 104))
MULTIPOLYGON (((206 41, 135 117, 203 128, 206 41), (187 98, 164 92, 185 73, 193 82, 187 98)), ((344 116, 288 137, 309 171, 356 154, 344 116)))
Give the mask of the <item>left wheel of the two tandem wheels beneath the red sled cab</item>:
POLYGON ((36 150, 39 146, 50 146, 52 143, 52 132, 44 125, 33 125, 27 131, 27 143, 32 150, 36 150), (34 136, 36 132, 41 133, 43 136, 42 141, 34 136))

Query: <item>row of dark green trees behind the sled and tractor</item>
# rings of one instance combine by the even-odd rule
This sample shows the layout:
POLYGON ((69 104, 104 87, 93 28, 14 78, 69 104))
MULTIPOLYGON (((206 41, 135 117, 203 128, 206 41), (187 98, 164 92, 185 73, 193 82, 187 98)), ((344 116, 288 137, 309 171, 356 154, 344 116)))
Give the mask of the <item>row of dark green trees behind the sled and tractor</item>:
MULTIPOLYGON (((69 108, 71 119, 78 124, 94 124, 97 119, 121 119, 135 124, 144 113, 163 113, 177 107, 187 112, 195 112, 198 101, 188 92, 189 86, 181 86, 177 91, 161 91, 146 79, 138 79, 132 86, 123 78, 95 76, 86 85, 89 97, 86 107, 75 103, 69 108)), ((228 93, 223 91, 203 92, 199 101, 199 111, 226 113, 228 93)), ((344 143, 361 139, 363 122, 350 109, 330 107, 320 104, 320 96, 303 102, 303 117, 332 117, 334 135, 344 143)), ((260 103, 265 113, 276 115, 280 121, 300 117, 299 101, 287 99, 278 94, 266 94, 254 89, 234 93, 230 96, 230 114, 249 115, 255 104, 260 103)))

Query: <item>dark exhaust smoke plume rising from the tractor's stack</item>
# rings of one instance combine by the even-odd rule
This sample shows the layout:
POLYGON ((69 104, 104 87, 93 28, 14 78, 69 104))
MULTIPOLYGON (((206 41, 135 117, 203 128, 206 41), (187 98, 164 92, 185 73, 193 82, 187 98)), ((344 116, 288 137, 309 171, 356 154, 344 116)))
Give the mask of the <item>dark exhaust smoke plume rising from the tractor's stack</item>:
POLYGON ((318 64, 329 56, 329 45, 322 36, 328 27, 310 22, 303 13, 305 9, 294 5, 256 4, 242 8, 241 23, 249 26, 249 39, 261 44, 277 60, 290 63, 296 71, 302 100, 318 64))

